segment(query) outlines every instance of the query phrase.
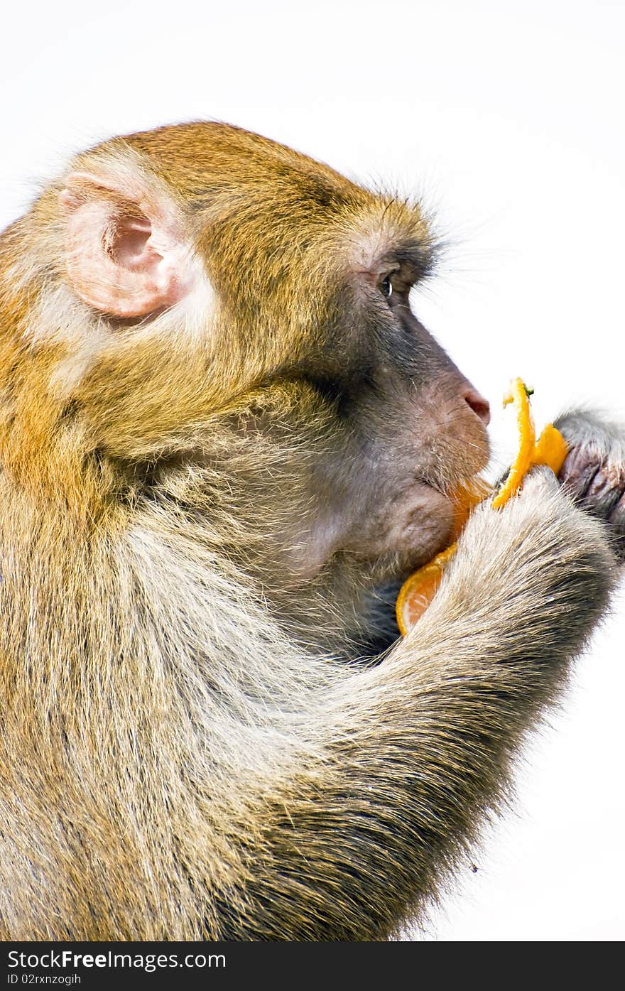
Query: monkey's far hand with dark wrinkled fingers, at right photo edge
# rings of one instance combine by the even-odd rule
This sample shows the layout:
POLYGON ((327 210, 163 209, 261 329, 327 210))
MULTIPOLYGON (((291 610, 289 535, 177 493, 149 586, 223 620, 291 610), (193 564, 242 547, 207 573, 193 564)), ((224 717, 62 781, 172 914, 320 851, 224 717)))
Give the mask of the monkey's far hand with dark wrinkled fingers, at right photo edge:
POLYGON ((570 451, 559 478, 575 502, 607 524, 611 546, 625 561, 625 429, 594 413, 565 413, 555 426, 570 451))

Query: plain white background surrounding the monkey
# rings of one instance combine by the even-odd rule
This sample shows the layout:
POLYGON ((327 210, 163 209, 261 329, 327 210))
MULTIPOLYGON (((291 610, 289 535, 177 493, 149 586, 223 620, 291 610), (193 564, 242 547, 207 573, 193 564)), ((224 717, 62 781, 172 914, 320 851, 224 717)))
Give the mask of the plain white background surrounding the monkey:
MULTIPOLYGON (((623 414, 624 41, 617 0, 11 4, 0 222, 71 151, 192 118, 420 191, 450 252, 415 307, 493 402, 505 462, 513 375, 539 423, 623 414)), ((621 592, 425 938, 625 935, 624 639, 621 592)))

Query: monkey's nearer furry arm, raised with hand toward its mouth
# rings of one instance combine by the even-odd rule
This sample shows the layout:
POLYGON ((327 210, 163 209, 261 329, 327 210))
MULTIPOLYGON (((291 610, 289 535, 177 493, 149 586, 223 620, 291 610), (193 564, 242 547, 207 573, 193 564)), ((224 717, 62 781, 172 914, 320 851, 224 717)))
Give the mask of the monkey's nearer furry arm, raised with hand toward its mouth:
POLYGON ((309 716, 325 759, 256 797, 250 911, 225 901, 224 936, 382 938, 418 911, 496 804, 613 571, 600 524, 549 473, 479 508, 415 630, 309 716))

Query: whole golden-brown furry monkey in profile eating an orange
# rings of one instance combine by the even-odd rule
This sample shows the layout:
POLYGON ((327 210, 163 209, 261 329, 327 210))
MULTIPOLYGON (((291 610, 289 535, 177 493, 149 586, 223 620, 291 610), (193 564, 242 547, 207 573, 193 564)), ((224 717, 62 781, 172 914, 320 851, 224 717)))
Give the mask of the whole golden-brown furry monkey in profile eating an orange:
POLYGON ((232 125, 76 155, 0 238, 0 935, 383 940, 609 607, 618 425, 450 540, 488 403, 419 203, 232 125))

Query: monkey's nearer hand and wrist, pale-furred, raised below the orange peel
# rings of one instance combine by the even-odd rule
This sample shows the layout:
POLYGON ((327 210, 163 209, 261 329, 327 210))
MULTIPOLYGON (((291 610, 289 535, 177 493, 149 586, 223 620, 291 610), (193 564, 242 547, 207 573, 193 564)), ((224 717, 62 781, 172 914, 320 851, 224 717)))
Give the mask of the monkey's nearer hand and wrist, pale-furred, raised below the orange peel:
MULTIPOLYGON (((518 658, 525 667, 550 654, 565 660, 581 649, 599 619, 614 572, 604 527, 575 504, 549 469, 534 469, 504 507, 493 511, 486 502, 471 514, 415 635, 444 612, 448 628, 464 631, 482 656, 484 648, 476 643, 481 637, 475 637, 481 629, 490 656, 495 644, 488 633, 498 631, 513 663, 518 658)), ((500 653, 504 660, 505 650, 500 653)))

